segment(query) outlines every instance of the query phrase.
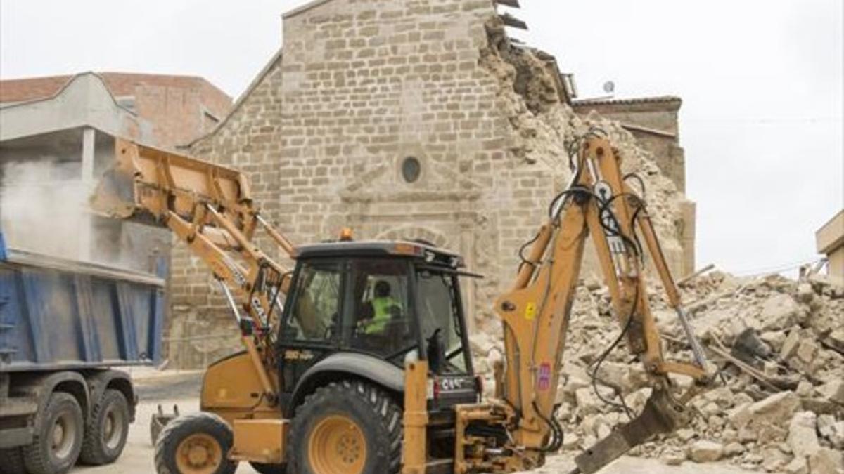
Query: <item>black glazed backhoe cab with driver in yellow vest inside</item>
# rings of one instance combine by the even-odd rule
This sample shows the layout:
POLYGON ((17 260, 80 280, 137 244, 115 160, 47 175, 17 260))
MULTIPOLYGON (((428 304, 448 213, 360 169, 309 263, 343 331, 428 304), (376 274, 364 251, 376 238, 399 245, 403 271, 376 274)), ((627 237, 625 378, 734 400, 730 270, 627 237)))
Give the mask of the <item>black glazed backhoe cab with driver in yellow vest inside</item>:
POLYGON ((435 398, 451 401, 447 405, 477 401, 458 282, 462 267, 457 254, 411 242, 299 247, 279 324, 282 391, 341 360, 353 361, 349 372, 371 365, 384 377, 401 378, 406 361, 425 358, 435 398))

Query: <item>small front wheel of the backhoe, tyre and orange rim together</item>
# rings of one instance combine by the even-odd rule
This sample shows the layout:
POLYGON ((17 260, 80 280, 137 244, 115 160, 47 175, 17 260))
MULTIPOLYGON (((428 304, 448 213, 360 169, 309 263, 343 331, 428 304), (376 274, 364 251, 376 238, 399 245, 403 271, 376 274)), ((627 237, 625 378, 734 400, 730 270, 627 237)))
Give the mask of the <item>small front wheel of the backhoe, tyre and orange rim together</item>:
POLYGON ((230 461, 234 435, 223 418, 212 413, 192 413, 167 423, 155 443, 158 474, 232 474, 230 461))

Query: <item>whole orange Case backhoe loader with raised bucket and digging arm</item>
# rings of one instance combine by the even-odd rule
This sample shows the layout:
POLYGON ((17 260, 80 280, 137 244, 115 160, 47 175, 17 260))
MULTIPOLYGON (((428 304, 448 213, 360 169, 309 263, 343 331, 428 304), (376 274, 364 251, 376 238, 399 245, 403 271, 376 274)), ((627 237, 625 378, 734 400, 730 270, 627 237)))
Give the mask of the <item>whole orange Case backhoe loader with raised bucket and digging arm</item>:
MULTIPOLYGON (((243 350, 204 374, 201 412, 168 423, 158 472, 359 474, 513 472, 560 449, 555 417, 561 357, 584 245, 598 252, 626 347, 652 381, 630 423, 576 457, 599 471, 630 448, 687 423, 711 383, 643 198, 605 134, 570 144, 572 179, 523 250, 495 301, 505 354, 495 397, 473 371, 460 282, 463 258, 422 241, 293 245, 258 211, 241 173, 118 140, 94 207, 166 226, 208 264, 243 350), (275 255, 257 246, 273 242, 275 255), (644 252, 676 309, 690 362, 663 357, 648 304, 644 252), (672 374, 690 377, 680 393, 672 374)), ((490 302, 492 304, 492 302, 490 302)), ((609 350, 608 350, 609 352, 609 350)), ((606 353, 602 358, 606 357, 606 353)))

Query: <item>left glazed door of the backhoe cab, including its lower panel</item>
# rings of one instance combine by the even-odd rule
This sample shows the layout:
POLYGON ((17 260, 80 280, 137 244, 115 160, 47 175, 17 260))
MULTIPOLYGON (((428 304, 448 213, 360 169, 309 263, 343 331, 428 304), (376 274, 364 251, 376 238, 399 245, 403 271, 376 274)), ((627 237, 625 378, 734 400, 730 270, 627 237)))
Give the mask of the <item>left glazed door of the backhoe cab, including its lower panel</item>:
POLYGON ((338 318, 343 314, 346 267, 346 261, 338 259, 298 263, 279 325, 283 399, 311 365, 338 350, 338 318))

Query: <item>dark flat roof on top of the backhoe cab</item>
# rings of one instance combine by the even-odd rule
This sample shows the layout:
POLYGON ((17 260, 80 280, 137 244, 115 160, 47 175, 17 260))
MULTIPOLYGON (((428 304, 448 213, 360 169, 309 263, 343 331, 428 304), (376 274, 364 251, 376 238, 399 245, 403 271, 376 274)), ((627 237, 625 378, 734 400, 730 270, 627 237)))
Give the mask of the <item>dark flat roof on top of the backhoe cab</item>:
POLYGON ((410 257, 443 267, 464 267, 463 257, 452 251, 403 240, 352 240, 296 247, 296 259, 320 257, 410 257))

